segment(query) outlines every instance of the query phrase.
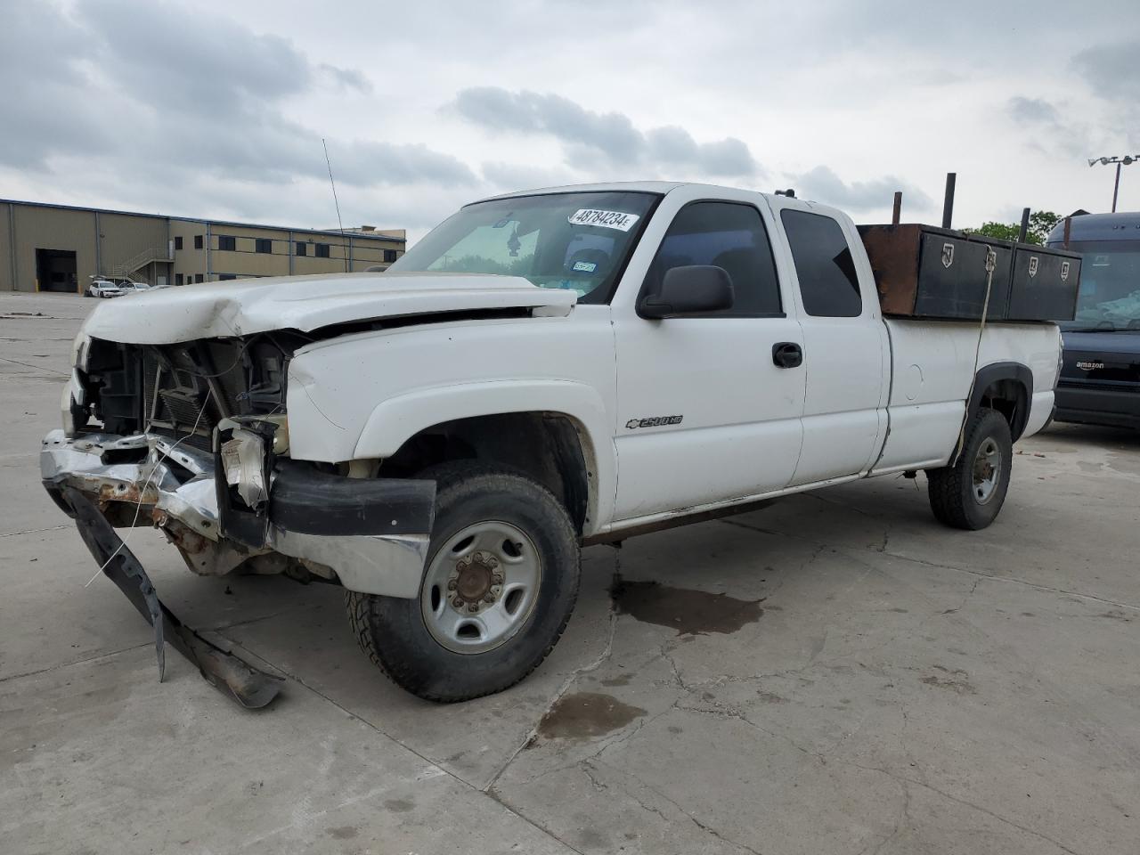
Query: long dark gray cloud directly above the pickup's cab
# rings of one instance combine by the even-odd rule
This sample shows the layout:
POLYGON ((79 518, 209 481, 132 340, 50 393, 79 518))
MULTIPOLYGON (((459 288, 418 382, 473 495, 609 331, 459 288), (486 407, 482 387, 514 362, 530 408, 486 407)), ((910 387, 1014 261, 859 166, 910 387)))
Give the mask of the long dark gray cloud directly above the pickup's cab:
POLYGON ((748 146, 726 137, 697 142, 684 128, 638 130, 624 113, 596 113, 560 95, 500 87, 459 91, 449 105, 466 121, 498 132, 545 133, 567 146, 567 158, 585 165, 601 153, 617 165, 659 164, 710 176, 752 176, 759 166, 748 146))

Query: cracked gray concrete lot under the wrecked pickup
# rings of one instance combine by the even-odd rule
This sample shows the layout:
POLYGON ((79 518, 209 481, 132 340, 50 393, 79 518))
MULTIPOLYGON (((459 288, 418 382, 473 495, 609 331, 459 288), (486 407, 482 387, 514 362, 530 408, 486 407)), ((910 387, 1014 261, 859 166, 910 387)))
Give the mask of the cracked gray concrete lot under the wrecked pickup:
POLYGON ((173 651, 158 682, 40 487, 95 304, 0 294, 3 852, 1137 850, 1140 434, 1020 442, 979 532, 887 478, 591 547, 546 663, 455 706, 389 683, 337 588, 135 530, 179 617, 286 677, 250 712, 173 651))

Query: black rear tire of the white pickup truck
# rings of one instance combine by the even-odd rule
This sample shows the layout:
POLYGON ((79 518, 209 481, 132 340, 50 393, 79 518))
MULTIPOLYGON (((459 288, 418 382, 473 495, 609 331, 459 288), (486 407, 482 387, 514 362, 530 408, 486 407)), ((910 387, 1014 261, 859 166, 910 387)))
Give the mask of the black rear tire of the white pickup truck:
MULTIPOLYGON (((927 470, 927 494, 930 510, 939 522, 953 528, 977 531, 996 519, 1009 490, 1013 464, 1013 441, 1005 417, 983 407, 966 426, 962 454, 953 466, 927 470), (976 482, 975 469, 983 448, 995 451, 999 459, 992 489, 983 497, 985 480, 976 482)), ((979 478, 985 474, 978 472, 979 478)))

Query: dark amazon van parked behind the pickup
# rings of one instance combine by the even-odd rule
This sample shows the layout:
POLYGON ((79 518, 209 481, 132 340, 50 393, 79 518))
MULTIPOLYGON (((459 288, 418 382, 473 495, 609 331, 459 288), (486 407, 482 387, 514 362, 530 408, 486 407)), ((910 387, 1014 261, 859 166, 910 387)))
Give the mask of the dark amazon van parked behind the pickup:
MULTIPOLYGON (((1082 214, 1069 223, 1068 249, 1083 261, 1075 319, 1060 324, 1054 418, 1140 427, 1140 212, 1082 214)), ((1061 222, 1048 245, 1064 243, 1061 222)))

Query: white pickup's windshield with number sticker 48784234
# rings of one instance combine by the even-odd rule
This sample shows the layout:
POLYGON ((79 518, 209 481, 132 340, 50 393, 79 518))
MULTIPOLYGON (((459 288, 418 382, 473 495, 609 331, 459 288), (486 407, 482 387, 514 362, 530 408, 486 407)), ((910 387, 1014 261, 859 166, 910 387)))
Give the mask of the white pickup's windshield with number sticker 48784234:
POLYGON ((467 205, 389 270, 522 276, 543 288, 610 299, 660 197, 651 193, 554 193, 467 205))

